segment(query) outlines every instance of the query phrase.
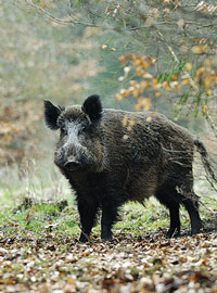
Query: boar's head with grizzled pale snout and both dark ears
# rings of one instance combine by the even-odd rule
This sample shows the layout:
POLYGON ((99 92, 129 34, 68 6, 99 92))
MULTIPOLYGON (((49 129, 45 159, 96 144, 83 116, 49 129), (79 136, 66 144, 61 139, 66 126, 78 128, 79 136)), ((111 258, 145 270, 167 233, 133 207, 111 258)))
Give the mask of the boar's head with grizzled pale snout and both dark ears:
POLYGON ((102 169, 102 105, 99 95, 87 98, 82 106, 55 106, 44 101, 44 119, 50 129, 60 129, 54 163, 64 171, 102 169))

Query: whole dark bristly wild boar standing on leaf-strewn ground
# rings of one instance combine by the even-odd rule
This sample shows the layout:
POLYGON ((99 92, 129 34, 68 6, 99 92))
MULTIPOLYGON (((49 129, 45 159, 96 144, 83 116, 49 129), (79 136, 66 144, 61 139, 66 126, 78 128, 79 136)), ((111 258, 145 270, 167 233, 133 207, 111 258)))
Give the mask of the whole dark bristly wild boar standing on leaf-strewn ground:
POLYGON ((54 163, 76 193, 81 242, 89 240, 99 209, 101 238, 111 241, 119 207, 128 201, 143 203, 152 195, 169 209, 167 238, 180 233, 181 204, 190 215, 191 234, 200 231, 194 145, 215 175, 203 143, 187 129, 162 114, 102 109, 97 94, 81 106, 44 101, 44 120, 50 129, 60 129, 54 163))

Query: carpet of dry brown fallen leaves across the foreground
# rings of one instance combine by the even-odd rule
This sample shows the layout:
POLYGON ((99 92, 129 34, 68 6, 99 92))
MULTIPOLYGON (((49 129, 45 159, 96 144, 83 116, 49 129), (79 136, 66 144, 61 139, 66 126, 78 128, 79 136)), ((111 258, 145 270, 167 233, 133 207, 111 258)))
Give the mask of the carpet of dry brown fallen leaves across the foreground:
POLYGON ((164 232, 88 244, 55 232, 1 232, 0 291, 217 292, 216 233, 166 240, 164 232))

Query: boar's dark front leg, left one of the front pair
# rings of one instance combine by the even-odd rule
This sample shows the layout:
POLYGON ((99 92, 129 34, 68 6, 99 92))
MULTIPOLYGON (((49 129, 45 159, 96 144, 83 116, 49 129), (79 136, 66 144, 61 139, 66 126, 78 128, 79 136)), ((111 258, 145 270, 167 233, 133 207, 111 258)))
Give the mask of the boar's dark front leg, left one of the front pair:
POLYGON ((91 229, 94 225, 97 212, 98 212, 98 204, 97 202, 86 201, 84 199, 78 199, 78 212, 80 215, 80 224, 81 224, 81 233, 79 241, 87 242, 89 241, 89 235, 91 229))

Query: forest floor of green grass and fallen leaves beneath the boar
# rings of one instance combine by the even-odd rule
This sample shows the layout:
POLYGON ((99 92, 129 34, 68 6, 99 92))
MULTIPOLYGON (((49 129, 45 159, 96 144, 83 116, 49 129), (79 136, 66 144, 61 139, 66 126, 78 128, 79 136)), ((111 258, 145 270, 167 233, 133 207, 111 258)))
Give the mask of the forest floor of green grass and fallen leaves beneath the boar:
POLYGON ((155 205, 126 205, 113 243, 100 240, 97 226, 86 244, 77 240, 77 211, 66 201, 52 205, 25 200, 4 211, 0 292, 216 293, 216 206, 194 237, 181 212, 182 234, 168 240, 167 228, 162 228, 168 227, 168 214, 155 205))

